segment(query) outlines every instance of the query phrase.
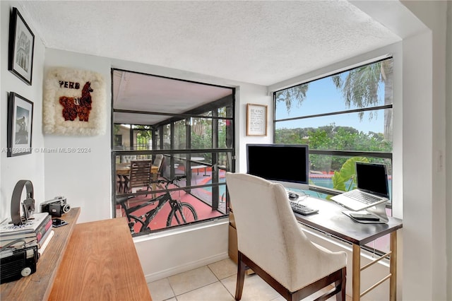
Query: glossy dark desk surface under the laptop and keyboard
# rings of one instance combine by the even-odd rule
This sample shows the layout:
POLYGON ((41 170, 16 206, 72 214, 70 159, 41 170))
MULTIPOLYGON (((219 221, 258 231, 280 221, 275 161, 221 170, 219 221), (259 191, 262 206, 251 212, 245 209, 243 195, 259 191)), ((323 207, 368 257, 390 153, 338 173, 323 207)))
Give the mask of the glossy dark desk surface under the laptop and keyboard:
POLYGON ((403 225, 402 220, 392 217, 388 218, 388 223, 357 223, 342 212, 344 211, 342 206, 313 196, 300 203, 319 210, 319 213, 310 216, 295 213, 295 218, 300 223, 359 246, 402 228, 403 225))

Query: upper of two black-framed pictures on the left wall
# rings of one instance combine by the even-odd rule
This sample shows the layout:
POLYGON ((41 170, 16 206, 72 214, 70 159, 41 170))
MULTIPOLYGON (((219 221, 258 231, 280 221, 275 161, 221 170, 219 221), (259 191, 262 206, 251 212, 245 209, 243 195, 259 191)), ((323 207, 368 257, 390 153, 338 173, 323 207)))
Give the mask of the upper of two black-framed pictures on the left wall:
POLYGON ((31 85, 35 35, 23 20, 18 9, 13 7, 9 19, 8 70, 28 85, 31 85))

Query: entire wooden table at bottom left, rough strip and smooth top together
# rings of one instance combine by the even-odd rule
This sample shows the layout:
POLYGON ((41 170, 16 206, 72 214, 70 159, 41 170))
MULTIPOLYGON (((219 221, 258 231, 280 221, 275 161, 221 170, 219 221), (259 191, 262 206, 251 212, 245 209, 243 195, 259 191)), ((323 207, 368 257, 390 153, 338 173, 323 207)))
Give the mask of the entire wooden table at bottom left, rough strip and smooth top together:
POLYGON ((1 300, 151 300, 125 218, 54 228, 36 272, 0 285, 1 300))

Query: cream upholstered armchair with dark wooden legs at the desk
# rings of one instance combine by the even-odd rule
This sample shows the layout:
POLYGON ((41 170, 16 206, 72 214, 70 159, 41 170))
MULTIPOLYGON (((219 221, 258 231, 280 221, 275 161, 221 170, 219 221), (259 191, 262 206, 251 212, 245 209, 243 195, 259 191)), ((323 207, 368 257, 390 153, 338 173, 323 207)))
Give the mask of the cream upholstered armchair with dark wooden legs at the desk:
POLYGON ((330 252, 309 240, 295 219, 281 184, 246 174, 226 174, 237 227, 235 300, 242 298, 251 268, 287 300, 301 300, 329 287, 316 300, 345 300, 347 254, 330 252))

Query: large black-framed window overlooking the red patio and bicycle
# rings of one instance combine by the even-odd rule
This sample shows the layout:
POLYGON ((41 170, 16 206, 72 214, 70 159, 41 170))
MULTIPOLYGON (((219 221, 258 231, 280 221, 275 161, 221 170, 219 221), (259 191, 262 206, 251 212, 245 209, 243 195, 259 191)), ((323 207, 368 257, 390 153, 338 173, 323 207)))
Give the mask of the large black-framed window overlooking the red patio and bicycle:
POLYGON ((129 219, 134 236, 227 216, 234 89, 112 76, 114 215, 129 219))

